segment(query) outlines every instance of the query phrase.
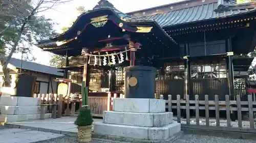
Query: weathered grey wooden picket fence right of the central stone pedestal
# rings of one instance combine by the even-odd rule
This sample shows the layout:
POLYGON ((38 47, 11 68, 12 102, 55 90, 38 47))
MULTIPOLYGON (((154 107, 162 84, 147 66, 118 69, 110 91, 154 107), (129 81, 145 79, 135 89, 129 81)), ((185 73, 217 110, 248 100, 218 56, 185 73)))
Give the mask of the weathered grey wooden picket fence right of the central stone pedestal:
MULTIPOLYGON (((160 95, 163 99, 163 95, 160 95)), ((208 95, 205 95, 205 100, 199 100, 199 95, 195 95, 195 100, 189 100, 189 95, 186 100, 181 100, 180 95, 177 95, 177 100, 172 100, 172 95, 168 95, 166 100, 166 108, 169 112, 177 109, 177 122, 181 123, 182 128, 186 129, 202 129, 214 131, 237 131, 246 133, 256 133, 255 121, 253 112, 256 108, 256 102, 252 100, 252 96, 248 95, 248 101, 240 101, 240 96, 237 95, 237 101, 230 101, 229 95, 225 96, 225 101, 219 101, 219 96, 215 95, 214 101, 208 100, 208 95), (181 111, 185 110, 186 118, 181 118, 181 111), (195 119, 190 117, 190 111, 195 111, 195 119), (199 117, 199 111, 205 110, 204 119, 199 117), (209 118, 209 111, 215 110, 215 119, 209 118), (226 111, 226 119, 220 119, 220 111, 226 111), (230 120, 230 112, 236 112, 237 121, 230 120), (249 113, 247 121, 242 120, 242 111, 249 113)))

